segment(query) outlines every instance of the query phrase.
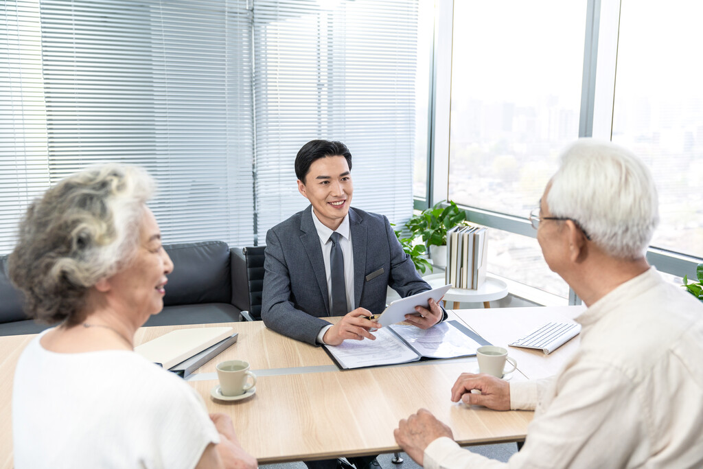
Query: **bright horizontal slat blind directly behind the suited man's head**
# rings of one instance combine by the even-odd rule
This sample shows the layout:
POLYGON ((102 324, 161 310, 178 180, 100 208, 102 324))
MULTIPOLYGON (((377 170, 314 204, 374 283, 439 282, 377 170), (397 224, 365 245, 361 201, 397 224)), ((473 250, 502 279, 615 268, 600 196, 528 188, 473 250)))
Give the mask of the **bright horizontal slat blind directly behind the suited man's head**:
POLYGON ((349 146, 353 206, 410 217, 417 11, 406 0, 254 2, 259 240, 307 206, 293 162, 317 138, 349 146))

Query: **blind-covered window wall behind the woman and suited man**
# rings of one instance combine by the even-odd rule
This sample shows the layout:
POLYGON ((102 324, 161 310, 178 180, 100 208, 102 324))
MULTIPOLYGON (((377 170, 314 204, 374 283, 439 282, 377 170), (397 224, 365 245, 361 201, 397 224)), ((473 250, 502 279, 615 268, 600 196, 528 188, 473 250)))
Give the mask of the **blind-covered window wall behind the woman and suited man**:
POLYGON ((18 0, 0 27, 0 254, 32 198, 108 160, 155 176, 167 242, 261 244, 307 205, 316 138, 351 149, 355 206, 411 214, 417 1, 18 0))

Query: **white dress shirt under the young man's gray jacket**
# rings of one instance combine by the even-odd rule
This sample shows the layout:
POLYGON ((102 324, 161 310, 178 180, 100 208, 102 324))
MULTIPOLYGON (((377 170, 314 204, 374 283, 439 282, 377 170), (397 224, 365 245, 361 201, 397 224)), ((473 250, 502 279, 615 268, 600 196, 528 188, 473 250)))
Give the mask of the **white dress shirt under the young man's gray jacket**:
MULTIPOLYGON (((349 229, 349 213, 342 220, 342 224, 337 227, 336 230, 331 230, 327 226, 322 224, 315 213, 315 209, 312 209, 312 221, 315 224, 315 229, 317 230, 317 236, 320 238, 320 245, 322 248, 322 259, 325 262, 325 278, 327 279, 327 294, 328 294, 328 304, 332 304, 332 275, 330 274, 330 252, 332 252, 332 240, 330 236, 334 231, 340 233, 342 237, 340 238, 340 247, 342 248, 342 257, 344 257, 344 286, 347 290, 347 312, 354 309, 354 252, 352 252, 352 233, 349 229)), ((317 341, 319 343, 324 343, 322 338, 324 337, 327 330, 332 327, 325 326, 322 328, 320 333, 317 335, 317 341)))

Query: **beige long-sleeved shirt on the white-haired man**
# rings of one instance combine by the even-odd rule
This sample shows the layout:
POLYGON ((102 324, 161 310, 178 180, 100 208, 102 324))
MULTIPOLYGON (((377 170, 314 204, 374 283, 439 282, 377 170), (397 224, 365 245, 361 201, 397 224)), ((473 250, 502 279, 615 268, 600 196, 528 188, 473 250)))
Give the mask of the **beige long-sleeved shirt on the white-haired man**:
POLYGON ((703 467, 703 303, 651 268, 576 321, 581 344, 554 378, 511 383, 512 409, 534 409, 508 463, 449 438, 425 468, 703 467))

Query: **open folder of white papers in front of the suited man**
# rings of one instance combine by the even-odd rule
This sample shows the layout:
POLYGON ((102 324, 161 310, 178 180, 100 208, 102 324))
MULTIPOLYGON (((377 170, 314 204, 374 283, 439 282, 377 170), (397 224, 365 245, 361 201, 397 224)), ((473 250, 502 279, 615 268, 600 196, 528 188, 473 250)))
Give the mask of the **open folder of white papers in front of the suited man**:
POLYGON ((427 359, 473 356, 484 338, 458 321, 445 321, 429 329, 393 324, 375 330, 376 340, 344 340, 341 345, 325 345, 342 370, 412 363, 427 359))

